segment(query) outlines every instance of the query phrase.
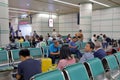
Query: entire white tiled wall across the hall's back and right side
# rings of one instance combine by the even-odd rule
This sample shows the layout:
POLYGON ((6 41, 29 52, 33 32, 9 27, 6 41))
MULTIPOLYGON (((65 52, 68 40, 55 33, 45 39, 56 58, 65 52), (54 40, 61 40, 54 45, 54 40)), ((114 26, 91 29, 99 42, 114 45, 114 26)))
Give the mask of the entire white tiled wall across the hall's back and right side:
MULTIPOLYGON (((47 13, 50 15, 50 13, 47 13)), ((32 31, 36 30, 38 34, 47 35, 52 33, 53 28, 62 35, 71 34, 72 36, 78 32, 77 13, 59 15, 54 19, 54 27, 48 27, 48 18, 40 17, 39 14, 33 15, 32 31)), ((111 38, 118 39, 120 34, 120 7, 101 9, 93 11, 92 15, 92 34, 106 34, 111 38)), ((84 36, 87 31, 83 30, 84 36)), ((87 38, 86 38, 87 40, 87 38)), ((85 41, 86 41, 85 40, 85 41)))

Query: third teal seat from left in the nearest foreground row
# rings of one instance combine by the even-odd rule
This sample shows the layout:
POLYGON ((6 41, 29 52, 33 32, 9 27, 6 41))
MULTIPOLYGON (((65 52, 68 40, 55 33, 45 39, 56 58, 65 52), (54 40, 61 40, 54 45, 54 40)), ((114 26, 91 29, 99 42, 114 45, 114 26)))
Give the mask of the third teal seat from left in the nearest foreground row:
POLYGON ((105 75, 105 70, 100 59, 94 58, 84 63, 89 76, 93 80, 108 80, 105 75))

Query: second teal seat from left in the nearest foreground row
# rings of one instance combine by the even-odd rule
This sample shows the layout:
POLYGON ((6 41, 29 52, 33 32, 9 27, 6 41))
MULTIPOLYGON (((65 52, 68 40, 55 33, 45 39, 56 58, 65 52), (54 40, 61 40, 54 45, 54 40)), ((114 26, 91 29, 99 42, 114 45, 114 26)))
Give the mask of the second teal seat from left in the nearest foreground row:
POLYGON ((67 66, 64 71, 67 74, 68 80, 90 80, 87 70, 82 63, 67 66))

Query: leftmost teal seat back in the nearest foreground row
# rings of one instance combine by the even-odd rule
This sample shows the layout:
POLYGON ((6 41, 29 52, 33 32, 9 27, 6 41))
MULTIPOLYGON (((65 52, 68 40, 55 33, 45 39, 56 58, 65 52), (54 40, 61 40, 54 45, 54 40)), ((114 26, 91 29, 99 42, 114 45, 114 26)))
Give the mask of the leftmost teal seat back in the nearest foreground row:
POLYGON ((30 80, 65 80, 62 71, 56 69, 46 73, 34 75, 30 80))

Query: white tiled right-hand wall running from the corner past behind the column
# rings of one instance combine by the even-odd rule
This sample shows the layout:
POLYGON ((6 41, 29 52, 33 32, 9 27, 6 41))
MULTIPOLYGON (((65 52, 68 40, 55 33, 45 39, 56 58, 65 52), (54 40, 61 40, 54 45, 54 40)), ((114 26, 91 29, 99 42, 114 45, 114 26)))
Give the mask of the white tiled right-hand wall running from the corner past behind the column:
MULTIPOLYGON (((95 10, 92 14, 91 33, 106 34, 110 38, 119 39, 120 35, 120 7, 95 10)), ((74 35, 79 30, 77 13, 59 16, 59 33, 74 35)), ((83 30, 84 36, 86 31, 83 30)), ((85 39, 84 41, 86 41, 85 39)))

